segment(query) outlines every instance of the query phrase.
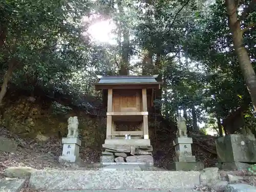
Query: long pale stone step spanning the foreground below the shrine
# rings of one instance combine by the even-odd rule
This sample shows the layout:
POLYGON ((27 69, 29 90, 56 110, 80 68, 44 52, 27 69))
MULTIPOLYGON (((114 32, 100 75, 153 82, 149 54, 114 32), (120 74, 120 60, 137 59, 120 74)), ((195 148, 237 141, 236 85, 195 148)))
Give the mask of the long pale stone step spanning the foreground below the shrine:
POLYGON ((170 190, 199 185, 196 171, 142 170, 37 170, 29 185, 43 190, 170 190))

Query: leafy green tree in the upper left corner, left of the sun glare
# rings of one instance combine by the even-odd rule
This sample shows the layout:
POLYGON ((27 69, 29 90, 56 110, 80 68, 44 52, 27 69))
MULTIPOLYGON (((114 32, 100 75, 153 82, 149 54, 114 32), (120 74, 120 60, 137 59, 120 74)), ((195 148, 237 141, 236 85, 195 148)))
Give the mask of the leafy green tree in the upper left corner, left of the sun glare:
POLYGON ((38 67, 37 72, 47 72, 51 69, 50 63, 56 67, 53 61, 59 57, 69 60, 71 52, 80 52, 76 49, 81 39, 79 25, 82 16, 89 12, 89 1, 86 0, 13 0, 1 3, 0 62, 6 72, 0 91, 0 105, 15 70, 34 66, 38 67))

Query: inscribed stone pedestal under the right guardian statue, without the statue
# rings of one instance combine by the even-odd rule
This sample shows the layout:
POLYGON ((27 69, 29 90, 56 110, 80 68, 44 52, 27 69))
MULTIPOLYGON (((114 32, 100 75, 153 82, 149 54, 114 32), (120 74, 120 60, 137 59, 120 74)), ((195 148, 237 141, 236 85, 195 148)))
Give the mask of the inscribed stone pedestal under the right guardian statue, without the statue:
POLYGON ((174 170, 201 170, 204 168, 201 162, 196 162, 196 157, 192 155, 192 138, 178 137, 173 141, 175 147, 174 162, 170 164, 170 169, 174 170))

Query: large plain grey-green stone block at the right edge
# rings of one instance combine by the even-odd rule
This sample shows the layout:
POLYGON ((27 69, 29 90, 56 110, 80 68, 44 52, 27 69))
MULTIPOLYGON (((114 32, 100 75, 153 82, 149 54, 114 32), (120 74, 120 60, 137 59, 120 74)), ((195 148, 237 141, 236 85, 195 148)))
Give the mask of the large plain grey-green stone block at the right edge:
POLYGON ((216 140, 219 166, 222 169, 241 170, 256 163, 254 136, 230 134, 216 140))

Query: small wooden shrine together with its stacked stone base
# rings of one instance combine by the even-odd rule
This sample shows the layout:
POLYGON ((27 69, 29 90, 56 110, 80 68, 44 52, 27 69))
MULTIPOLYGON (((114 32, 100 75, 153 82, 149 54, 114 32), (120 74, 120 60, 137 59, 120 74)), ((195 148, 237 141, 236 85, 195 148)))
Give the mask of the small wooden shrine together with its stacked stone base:
POLYGON ((153 76, 97 76, 95 90, 102 90, 107 106, 106 139, 102 164, 154 164, 148 137, 148 108, 153 106, 154 89, 162 82, 153 76))

